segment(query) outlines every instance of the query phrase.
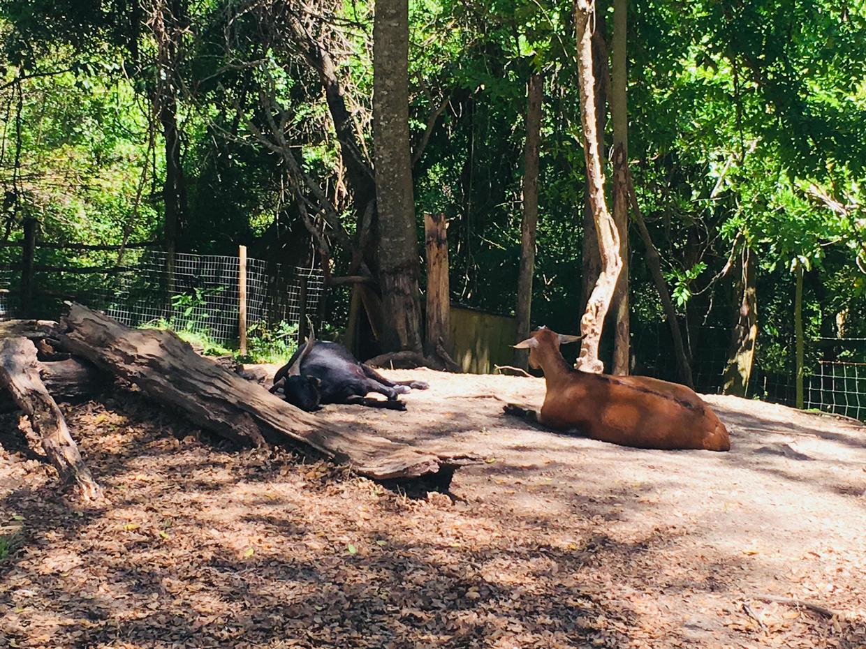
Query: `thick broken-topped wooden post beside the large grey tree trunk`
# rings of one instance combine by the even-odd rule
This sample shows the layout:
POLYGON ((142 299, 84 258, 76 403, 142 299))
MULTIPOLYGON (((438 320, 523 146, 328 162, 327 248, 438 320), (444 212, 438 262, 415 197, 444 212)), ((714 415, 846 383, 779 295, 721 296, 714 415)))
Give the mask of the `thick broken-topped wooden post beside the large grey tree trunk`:
POLYGON ((436 354, 442 344, 449 354, 451 345, 451 295, 448 279, 448 235, 443 214, 424 215, 427 244, 427 337, 425 351, 436 354))

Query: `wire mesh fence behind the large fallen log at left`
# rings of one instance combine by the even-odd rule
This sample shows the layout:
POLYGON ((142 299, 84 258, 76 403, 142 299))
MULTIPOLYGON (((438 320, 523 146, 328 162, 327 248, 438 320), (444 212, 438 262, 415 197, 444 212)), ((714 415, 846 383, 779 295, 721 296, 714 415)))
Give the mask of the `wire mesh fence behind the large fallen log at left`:
MULTIPOLYGON (((93 255, 87 263, 94 263, 93 255)), ((0 317, 16 317, 20 312, 21 301, 16 299, 20 273, 10 270, 12 266, 0 267, 0 317)), ((39 268, 31 311, 40 318, 57 318, 63 301, 74 299, 130 326, 166 324, 206 333, 216 342, 237 340, 238 257, 176 254, 172 267, 165 251, 137 250, 130 251, 125 266, 106 266, 103 273, 39 268)), ((297 324, 307 315, 313 318, 324 288, 318 268, 257 259, 247 260, 246 280, 248 328, 297 324)))

